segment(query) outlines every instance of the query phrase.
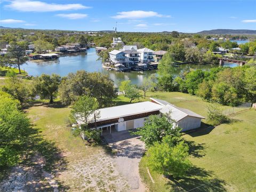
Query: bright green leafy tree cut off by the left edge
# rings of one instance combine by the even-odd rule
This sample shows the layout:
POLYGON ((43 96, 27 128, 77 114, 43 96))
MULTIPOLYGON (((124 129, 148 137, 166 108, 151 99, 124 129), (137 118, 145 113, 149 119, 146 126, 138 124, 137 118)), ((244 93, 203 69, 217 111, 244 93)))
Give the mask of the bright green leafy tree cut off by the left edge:
POLYGON ((0 119, 0 167, 13 166, 31 134, 31 124, 20 111, 19 101, 4 92, 0 92, 0 119))

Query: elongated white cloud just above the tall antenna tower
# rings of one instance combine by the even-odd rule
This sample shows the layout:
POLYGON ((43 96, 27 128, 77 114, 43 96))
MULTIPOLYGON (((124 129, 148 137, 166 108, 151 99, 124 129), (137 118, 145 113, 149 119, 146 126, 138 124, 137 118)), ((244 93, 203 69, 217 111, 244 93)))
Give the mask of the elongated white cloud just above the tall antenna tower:
POLYGON ((118 12, 117 15, 111 17, 114 19, 139 19, 149 17, 171 17, 170 15, 158 14, 154 11, 123 11, 118 12))

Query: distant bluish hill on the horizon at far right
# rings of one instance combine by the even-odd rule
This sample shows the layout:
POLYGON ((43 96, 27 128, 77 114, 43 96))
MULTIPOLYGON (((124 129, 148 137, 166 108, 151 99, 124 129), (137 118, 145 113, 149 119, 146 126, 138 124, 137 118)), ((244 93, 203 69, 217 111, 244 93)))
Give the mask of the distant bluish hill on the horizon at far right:
POLYGON ((250 29, 213 29, 213 30, 203 30, 197 34, 215 34, 215 35, 256 35, 256 30, 250 29))

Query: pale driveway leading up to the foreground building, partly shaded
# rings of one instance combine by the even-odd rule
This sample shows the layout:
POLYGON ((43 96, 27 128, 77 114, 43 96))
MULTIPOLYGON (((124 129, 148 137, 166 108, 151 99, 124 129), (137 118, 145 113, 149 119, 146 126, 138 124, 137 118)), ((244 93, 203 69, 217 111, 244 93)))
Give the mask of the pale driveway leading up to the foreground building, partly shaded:
POLYGON ((128 131, 106 134, 104 138, 109 146, 117 151, 112 159, 116 169, 129 183, 130 191, 146 191, 139 175, 139 162, 145 153, 144 143, 128 131))

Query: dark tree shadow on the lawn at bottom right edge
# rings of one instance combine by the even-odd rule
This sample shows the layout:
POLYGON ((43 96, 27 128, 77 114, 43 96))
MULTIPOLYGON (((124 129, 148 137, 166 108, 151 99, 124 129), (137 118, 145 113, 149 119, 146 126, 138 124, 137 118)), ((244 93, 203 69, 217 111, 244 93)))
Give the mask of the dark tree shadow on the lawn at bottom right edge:
POLYGON ((169 176, 167 179, 170 181, 166 185, 170 185, 173 191, 227 191, 227 183, 224 180, 214 178, 212 171, 196 166, 191 167, 186 177, 174 179, 169 176))

